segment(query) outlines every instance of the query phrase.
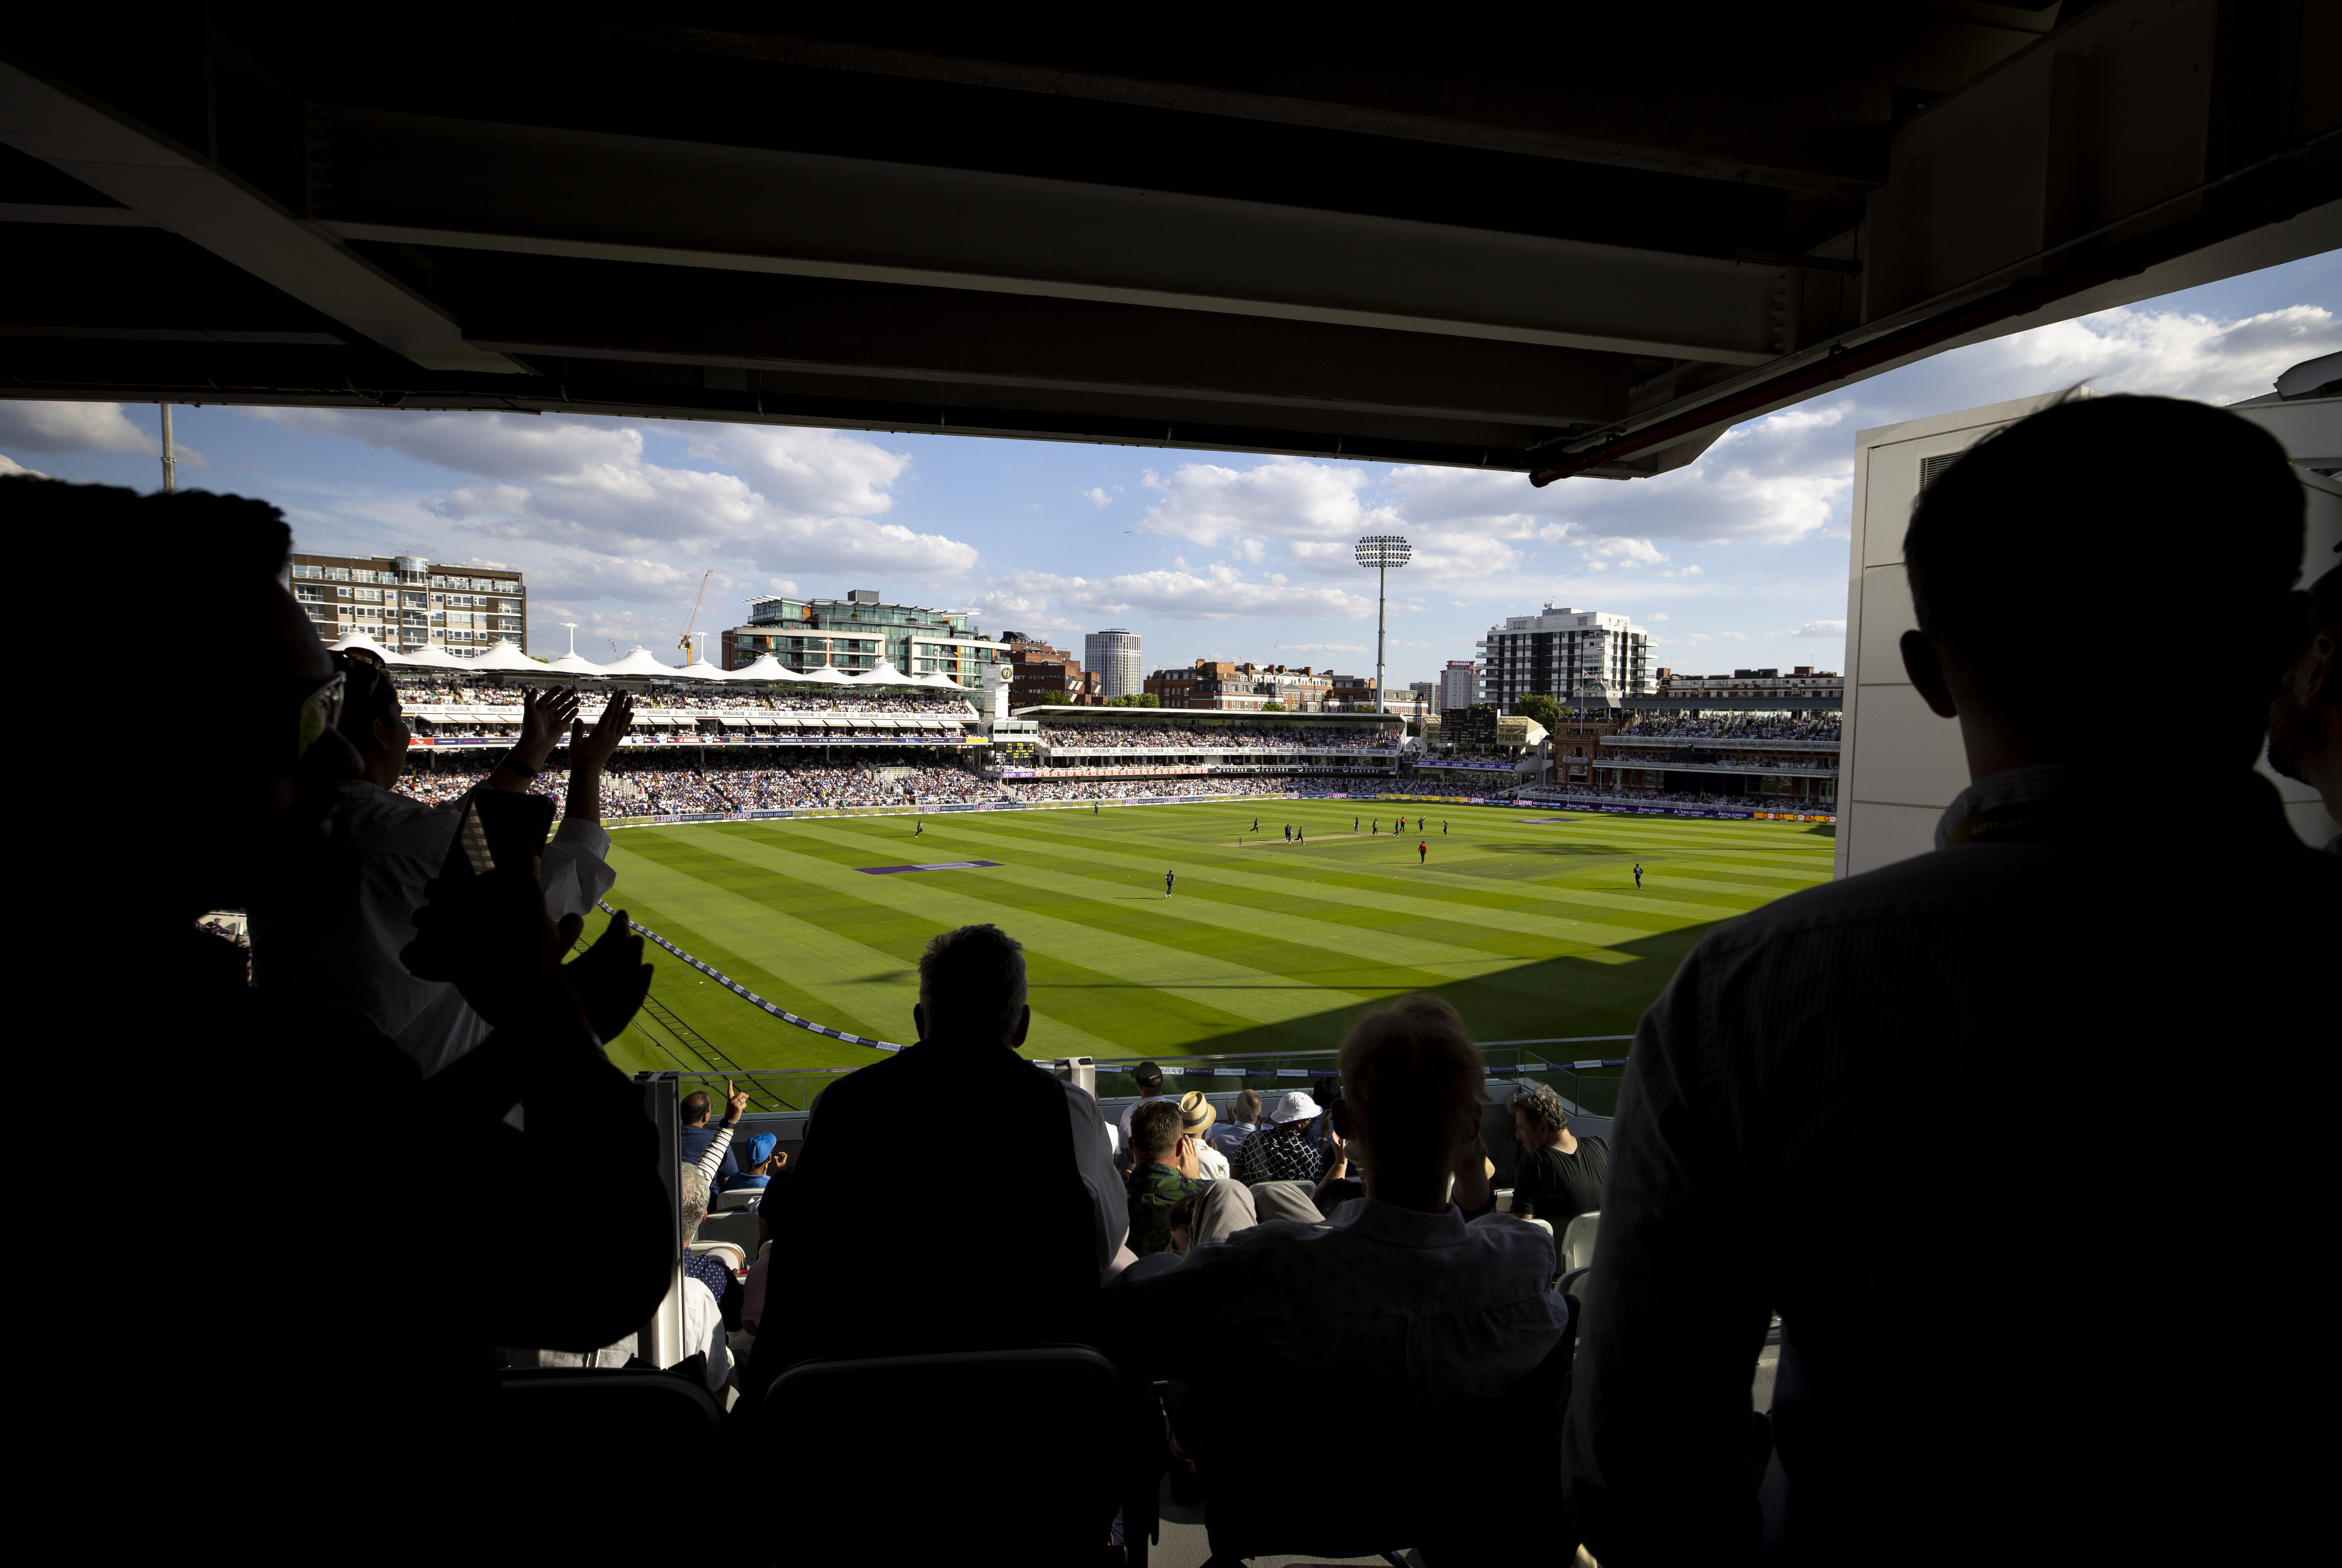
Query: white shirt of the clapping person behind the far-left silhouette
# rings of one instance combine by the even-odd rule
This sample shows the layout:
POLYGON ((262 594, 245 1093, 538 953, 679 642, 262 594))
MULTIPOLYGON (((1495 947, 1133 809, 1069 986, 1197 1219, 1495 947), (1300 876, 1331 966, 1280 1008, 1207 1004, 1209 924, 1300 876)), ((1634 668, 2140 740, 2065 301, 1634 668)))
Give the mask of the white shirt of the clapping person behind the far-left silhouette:
MULTIPOLYGON (((253 984, 265 984, 342 1027, 389 1036, 440 1071, 489 1027, 452 984, 417 980, 398 959, 415 940, 424 884, 438 877, 464 820, 363 778, 342 785, 333 841, 290 900, 251 912, 253 984)), ((618 874, 600 823, 564 820, 546 844, 546 914, 593 914, 618 874)))

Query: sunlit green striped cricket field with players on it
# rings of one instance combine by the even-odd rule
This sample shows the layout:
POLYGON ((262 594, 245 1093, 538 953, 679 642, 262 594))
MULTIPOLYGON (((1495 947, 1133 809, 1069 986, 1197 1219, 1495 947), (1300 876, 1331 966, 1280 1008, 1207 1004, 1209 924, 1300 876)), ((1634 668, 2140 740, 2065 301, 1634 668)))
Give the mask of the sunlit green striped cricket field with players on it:
MULTIPOLYGON (((1632 1034, 1712 923, 1829 879, 1829 830, 1806 823, 1452 806, 1443 834, 1422 806, 1417 865, 1389 804, 1379 837, 1351 837, 1351 804, 953 813, 916 841, 909 816, 630 827, 611 834, 611 905, 792 1013, 904 1043, 920 947, 995 921, 1026 945, 1028 1055, 1173 1059, 1323 1050, 1405 991, 1447 996, 1482 1041, 1632 1034), (1283 844, 1283 823, 1309 844, 1283 844), (857 870, 960 858, 1000 865, 857 870)), ((653 998, 742 1066, 876 1059, 651 956, 653 998)), ((677 1066, 667 1041, 646 1020, 611 1055, 677 1066)))

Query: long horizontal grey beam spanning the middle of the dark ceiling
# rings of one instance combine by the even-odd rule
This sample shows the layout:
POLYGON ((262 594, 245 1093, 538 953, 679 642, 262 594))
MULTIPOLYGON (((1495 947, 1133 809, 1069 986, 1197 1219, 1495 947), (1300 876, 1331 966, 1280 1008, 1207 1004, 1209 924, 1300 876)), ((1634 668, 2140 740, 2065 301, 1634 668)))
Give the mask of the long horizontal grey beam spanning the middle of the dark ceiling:
POLYGON ((340 239, 1754 366, 1792 267, 1073 180, 326 108, 340 239))

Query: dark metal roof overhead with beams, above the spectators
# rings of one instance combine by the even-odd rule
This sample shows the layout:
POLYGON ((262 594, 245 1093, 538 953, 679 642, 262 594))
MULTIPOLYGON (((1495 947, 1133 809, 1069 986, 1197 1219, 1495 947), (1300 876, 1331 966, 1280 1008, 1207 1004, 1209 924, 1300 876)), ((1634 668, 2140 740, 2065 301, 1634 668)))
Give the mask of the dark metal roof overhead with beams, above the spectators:
POLYGON ((131 9, 0 40, 0 396, 1630 478, 2342 246, 2314 0, 131 9))

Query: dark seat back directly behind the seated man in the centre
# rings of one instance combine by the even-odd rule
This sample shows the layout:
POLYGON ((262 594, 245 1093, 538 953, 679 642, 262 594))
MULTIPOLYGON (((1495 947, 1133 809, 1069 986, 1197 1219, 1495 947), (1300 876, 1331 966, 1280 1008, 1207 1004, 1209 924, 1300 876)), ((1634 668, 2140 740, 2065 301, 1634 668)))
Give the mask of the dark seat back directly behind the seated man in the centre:
POLYGON ((1016 1561, 1089 1561, 1119 1502, 1122 1383, 1089 1345, 799 1362, 763 1430, 787 1448, 806 1540, 995 1538, 1016 1561))

